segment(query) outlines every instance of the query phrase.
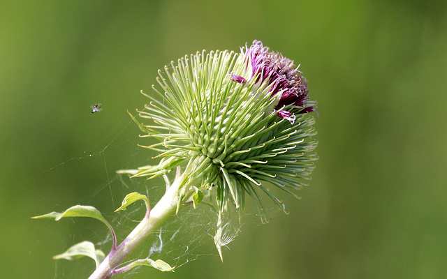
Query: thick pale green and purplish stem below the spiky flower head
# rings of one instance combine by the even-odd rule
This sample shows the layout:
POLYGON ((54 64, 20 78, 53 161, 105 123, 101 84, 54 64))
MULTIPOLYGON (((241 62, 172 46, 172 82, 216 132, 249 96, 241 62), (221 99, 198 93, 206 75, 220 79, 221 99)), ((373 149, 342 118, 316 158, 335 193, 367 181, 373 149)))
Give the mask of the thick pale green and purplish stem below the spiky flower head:
POLYGON ((117 266, 122 264, 124 259, 135 250, 140 243, 156 229, 159 229, 169 216, 177 208, 178 190, 184 183, 184 175, 177 176, 173 184, 166 190, 165 195, 150 211, 149 218, 145 218, 135 229, 119 244, 115 250, 111 250, 103 262, 91 274, 89 279, 107 279, 117 274, 117 266))

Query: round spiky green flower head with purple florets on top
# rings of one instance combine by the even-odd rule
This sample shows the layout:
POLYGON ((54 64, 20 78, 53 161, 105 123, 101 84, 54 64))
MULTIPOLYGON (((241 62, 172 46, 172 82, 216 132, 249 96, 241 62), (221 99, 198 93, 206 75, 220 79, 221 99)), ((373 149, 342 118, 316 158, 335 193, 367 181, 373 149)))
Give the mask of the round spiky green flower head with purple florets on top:
POLYGON ((293 61, 255 40, 240 53, 184 56, 157 80, 159 97, 146 95, 151 102, 139 114, 150 119, 140 124, 142 137, 159 140, 145 147, 159 151, 161 163, 129 173, 152 178, 182 166, 181 197, 212 193, 223 212, 228 204, 244 209, 248 194, 261 216, 260 191, 284 208, 269 183, 295 195, 309 179, 316 142, 314 118, 304 112, 316 103, 293 61))

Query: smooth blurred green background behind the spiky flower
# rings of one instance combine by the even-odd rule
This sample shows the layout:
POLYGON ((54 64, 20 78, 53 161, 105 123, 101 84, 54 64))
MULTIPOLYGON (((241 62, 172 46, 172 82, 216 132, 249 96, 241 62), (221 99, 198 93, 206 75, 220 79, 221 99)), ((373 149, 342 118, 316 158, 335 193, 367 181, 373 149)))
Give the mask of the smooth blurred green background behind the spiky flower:
POLYGON ((103 226, 30 217, 89 204, 112 218, 126 193, 144 192, 145 181, 121 181, 115 170, 148 162, 126 110, 147 102, 140 90, 152 91, 156 70, 257 39, 301 64, 318 101, 310 186, 285 199, 289 215, 273 210, 268 225, 242 227, 223 264, 206 242, 200 255, 209 255, 175 273, 121 278, 446 278, 446 8, 1 1, 0 277, 87 278, 88 259, 51 257, 98 243, 103 226), (91 114, 94 103, 103 111, 91 114))

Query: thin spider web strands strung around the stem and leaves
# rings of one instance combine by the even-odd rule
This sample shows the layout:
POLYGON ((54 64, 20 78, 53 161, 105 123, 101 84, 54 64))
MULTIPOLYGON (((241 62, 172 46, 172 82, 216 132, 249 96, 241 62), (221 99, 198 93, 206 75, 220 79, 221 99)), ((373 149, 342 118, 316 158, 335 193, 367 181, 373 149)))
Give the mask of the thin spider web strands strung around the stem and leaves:
MULTIPOLYGON (((144 178, 131 179, 127 175, 116 174, 117 169, 129 169, 147 165, 148 163, 152 165, 157 163, 156 160, 147 159, 154 156, 154 153, 137 146, 138 133, 135 133, 135 130, 133 120, 129 119, 127 114, 124 114, 122 121, 117 123, 115 129, 110 131, 107 136, 91 149, 54 165, 54 167, 20 182, 20 184, 26 185, 27 181, 31 179, 51 180, 51 177, 55 174, 71 172, 73 168, 82 167, 85 164, 101 165, 101 169, 103 169, 102 179, 92 183, 93 186, 85 191, 85 194, 78 200, 78 204, 95 206, 101 211, 115 229, 119 244, 142 220, 145 214, 145 206, 142 202, 136 202, 131 204, 126 211, 119 211, 118 213, 113 213, 111 207, 112 209, 117 209, 121 205, 124 196, 132 192, 147 195, 149 202, 154 206, 166 189, 163 179, 156 178, 147 181, 144 178), (116 166, 110 163, 113 161, 111 158, 120 156, 122 153, 126 154, 126 157, 122 158, 125 162, 124 164, 116 166), (112 206, 110 206, 110 203, 112 206), (101 206, 101 204, 106 204, 106 206, 101 206)), ((171 179, 173 178, 171 177, 171 179)), ((45 193, 38 195, 40 195, 38 199, 46 199, 45 193)), ((71 204, 61 208, 57 201, 50 201, 50 203, 54 205, 53 210, 58 212, 75 205, 71 204)), ((241 229, 235 213, 224 217, 223 251, 241 229)), ((59 223, 48 223, 47 225, 47 232, 52 238, 66 243, 66 246, 60 247, 57 253, 62 253, 74 244, 87 240, 93 242, 96 249, 103 250, 105 255, 108 254, 112 238, 103 224, 91 218, 70 218, 70 221, 67 220, 68 218, 59 223)), ((214 246, 213 239, 213 236, 216 234, 216 221, 217 214, 212 211, 210 206, 201 206, 199 204, 196 209, 193 209, 192 206, 182 209, 177 216, 172 216, 166 222, 166 225, 163 225, 159 230, 148 236, 142 247, 129 257, 129 261, 145 258, 162 259, 171 266, 180 268, 184 264, 203 256, 212 256, 219 260, 219 254, 214 246)), ((250 216, 248 214, 244 216, 243 223, 245 225, 260 224, 256 215, 250 216)), ((39 241, 36 247, 31 250, 28 259, 24 259, 23 265, 31 257, 37 257, 37 255, 43 257, 53 256, 42 252, 42 249, 45 249, 45 243, 42 242, 43 240, 39 241)), ((139 271, 159 272, 147 266, 142 266, 138 269, 133 269, 115 277, 128 278, 131 274, 139 271)), ((59 259, 54 261, 53 278, 87 278, 93 270, 93 260, 87 257, 73 259, 72 261, 59 259)))

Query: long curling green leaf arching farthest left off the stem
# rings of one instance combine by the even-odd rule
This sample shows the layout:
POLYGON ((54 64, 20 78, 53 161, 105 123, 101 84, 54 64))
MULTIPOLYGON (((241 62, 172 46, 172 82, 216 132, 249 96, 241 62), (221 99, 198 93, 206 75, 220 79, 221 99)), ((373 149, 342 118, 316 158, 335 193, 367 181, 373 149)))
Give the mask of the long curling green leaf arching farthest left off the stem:
POLYGON ((61 218, 66 218, 66 217, 91 217, 91 218, 100 220, 102 223, 104 223, 108 227, 108 229, 112 233, 113 247, 114 248, 116 247, 117 237, 115 235, 115 232, 113 231, 112 226, 107 222, 107 220, 105 220, 105 218, 103 217, 101 212, 99 212, 98 209, 95 209, 93 206, 75 205, 62 213, 53 211, 53 212, 47 213, 45 215, 35 216, 35 217, 31 217, 31 218, 33 218, 33 219, 53 219, 55 221, 59 221, 59 220, 61 220, 61 218))

